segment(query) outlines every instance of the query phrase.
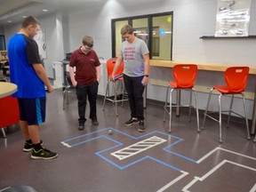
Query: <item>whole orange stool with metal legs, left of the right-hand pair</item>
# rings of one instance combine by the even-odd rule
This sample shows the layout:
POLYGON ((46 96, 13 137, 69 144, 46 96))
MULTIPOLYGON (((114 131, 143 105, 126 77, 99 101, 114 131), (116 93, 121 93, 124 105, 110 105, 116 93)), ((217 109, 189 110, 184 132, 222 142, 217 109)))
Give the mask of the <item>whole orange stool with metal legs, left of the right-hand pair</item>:
POLYGON ((166 99, 165 99, 165 104, 164 104, 164 121, 165 121, 165 116, 166 112, 169 113, 170 115, 170 121, 169 121, 169 132, 171 132, 172 129, 172 108, 180 108, 180 107, 188 107, 189 108, 189 121, 191 119, 191 101, 192 101, 192 91, 195 92, 195 104, 196 104, 196 120, 197 120, 197 132, 200 132, 199 128, 199 114, 198 114, 198 107, 197 107, 197 93, 196 90, 194 89, 194 84, 196 82, 196 76, 197 76, 197 66, 193 64, 180 64, 180 65, 175 65, 172 68, 172 75, 174 78, 174 82, 170 82, 168 89, 166 91, 166 99), (171 88, 171 90, 170 90, 171 88), (170 92, 169 92, 170 90, 170 92), (187 90, 190 92, 190 97, 189 97, 189 104, 188 105, 180 105, 180 101, 176 103, 176 105, 172 105, 172 92, 176 90, 180 92, 181 90, 187 90), (169 100, 170 100, 170 105, 168 106, 168 94, 169 95, 169 100), (168 108, 170 108, 168 110, 168 108))

